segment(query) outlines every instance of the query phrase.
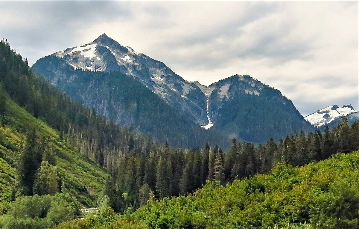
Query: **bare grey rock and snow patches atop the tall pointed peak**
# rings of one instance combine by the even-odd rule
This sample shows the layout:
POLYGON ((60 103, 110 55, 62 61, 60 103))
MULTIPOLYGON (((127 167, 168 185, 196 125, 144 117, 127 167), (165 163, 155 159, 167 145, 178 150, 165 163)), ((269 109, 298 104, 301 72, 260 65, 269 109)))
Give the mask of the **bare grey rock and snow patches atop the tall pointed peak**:
POLYGON ((194 122, 202 125, 208 120, 206 96, 199 87, 181 78, 164 63, 135 52, 106 34, 86 45, 68 48, 52 55, 64 59, 73 68, 131 75, 169 105, 185 111, 194 122))

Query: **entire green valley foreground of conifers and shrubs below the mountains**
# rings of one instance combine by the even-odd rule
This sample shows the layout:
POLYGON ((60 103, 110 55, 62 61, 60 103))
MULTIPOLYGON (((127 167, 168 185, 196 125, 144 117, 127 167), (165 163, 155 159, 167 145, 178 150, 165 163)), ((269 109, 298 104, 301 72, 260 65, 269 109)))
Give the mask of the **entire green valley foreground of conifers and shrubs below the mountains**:
POLYGON ((174 148, 71 100, 4 40, 0 74, 0 227, 359 228, 358 121, 174 148), (62 223, 81 209, 97 213, 62 223))

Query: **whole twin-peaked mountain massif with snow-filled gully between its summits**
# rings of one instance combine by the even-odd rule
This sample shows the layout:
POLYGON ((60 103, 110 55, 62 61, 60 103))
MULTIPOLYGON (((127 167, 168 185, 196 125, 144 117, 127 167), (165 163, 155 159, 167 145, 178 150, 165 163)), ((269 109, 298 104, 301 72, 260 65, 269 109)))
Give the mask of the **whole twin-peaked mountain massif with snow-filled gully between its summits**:
POLYGON ((249 75, 208 87, 187 82, 105 34, 41 58, 32 69, 98 113, 174 146, 229 138, 262 143, 314 129, 280 91, 249 75))

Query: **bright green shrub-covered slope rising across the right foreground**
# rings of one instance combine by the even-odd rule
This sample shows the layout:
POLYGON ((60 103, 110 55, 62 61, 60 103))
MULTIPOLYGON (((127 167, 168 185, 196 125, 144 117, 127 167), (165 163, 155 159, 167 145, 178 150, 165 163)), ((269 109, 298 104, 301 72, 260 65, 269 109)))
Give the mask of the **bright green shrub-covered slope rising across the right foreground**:
POLYGON ((57 228, 359 228, 359 151, 57 228), (311 225, 303 224, 309 222, 311 225))

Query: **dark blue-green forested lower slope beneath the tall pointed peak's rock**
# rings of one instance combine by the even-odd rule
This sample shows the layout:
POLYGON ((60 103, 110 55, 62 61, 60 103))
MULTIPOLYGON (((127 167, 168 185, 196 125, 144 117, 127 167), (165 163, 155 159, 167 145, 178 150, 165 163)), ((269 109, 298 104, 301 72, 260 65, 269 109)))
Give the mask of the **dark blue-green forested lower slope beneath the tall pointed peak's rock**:
POLYGON ((198 147, 206 142, 225 144, 183 111, 168 105, 137 80, 120 72, 74 69, 57 56, 39 59, 33 69, 67 95, 94 108, 123 127, 150 134, 172 146, 198 147))

